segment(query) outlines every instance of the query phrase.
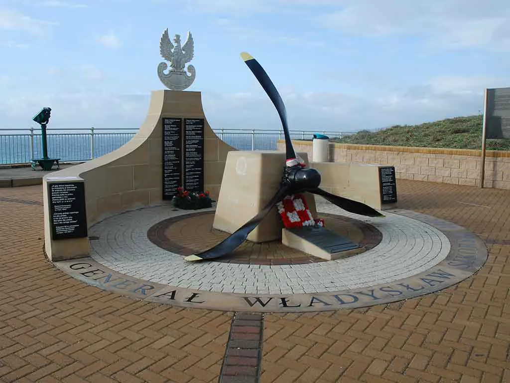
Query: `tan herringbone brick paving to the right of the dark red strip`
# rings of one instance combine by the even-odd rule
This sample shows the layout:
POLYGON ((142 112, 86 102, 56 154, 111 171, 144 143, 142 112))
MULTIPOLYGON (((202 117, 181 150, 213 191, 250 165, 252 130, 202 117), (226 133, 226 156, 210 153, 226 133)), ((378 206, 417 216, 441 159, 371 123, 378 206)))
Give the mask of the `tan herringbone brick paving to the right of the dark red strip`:
POLYGON ((398 192, 399 208, 460 224, 492 242, 487 264, 421 298, 266 315, 263 383, 510 382, 510 192, 406 180, 398 180, 398 192))

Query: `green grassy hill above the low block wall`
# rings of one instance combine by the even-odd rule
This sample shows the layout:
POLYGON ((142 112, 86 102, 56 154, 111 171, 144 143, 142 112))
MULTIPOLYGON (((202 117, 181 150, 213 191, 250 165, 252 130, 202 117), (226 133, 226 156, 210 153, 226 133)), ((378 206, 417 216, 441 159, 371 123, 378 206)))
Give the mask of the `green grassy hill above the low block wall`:
MULTIPOLYGON (((447 118, 421 125, 396 125, 356 134, 333 142, 425 148, 481 149, 482 116, 447 118)), ((488 139, 487 150, 510 150, 510 139, 488 139)))

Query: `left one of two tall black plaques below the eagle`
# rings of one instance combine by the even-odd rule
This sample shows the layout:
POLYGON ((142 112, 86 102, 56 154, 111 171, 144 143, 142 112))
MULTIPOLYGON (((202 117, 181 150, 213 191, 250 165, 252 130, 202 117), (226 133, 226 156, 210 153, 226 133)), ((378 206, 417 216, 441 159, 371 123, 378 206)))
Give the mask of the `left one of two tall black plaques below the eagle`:
POLYGON ((182 118, 163 118, 163 200, 182 186, 182 118))

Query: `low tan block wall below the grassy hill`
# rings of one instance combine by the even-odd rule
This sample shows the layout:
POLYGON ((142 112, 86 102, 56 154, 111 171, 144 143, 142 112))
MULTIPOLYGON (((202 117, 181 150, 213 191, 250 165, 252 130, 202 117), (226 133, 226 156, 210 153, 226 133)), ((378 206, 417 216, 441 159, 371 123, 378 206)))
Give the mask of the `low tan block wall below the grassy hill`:
MULTIPOLYGON (((312 156, 312 141, 293 141, 296 152, 312 156)), ((285 151, 285 141, 278 141, 285 151)), ((397 178, 479 186, 479 150, 329 143, 330 162, 395 166, 397 178)), ((510 189, 510 152, 487 151, 484 187, 510 189)))

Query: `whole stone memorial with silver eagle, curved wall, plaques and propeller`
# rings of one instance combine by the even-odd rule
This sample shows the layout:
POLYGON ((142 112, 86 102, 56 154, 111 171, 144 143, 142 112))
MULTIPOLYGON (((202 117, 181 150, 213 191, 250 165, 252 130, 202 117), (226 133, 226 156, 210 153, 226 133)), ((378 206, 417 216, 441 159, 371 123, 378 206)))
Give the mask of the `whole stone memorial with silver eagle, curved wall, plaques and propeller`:
MULTIPOLYGON (((165 205, 179 190, 198 194, 209 191, 218 201, 213 227, 232 233, 219 245, 187 257, 187 260, 227 255, 244 240, 251 241, 250 232, 264 226, 272 232, 271 235, 276 233, 273 239, 282 237, 284 245, 319 257, 321 255, 317 255, 317 249, 312 245, 321 242, 320 250, 325 259, 336 259, 335 253, 339 251, 358 251, 360 246, 357 244, 345 241, 345 238, 340 241, 338 236, 328 234, 323 222, 316 219, 313 195, 320 195, 350 212, 380 217, 376 210, 380 209, 378 202, 384 196, 391 197, 388 190, 391 191, 390 186, 394 185, 390 182, 394 172, 380 178, 380 189, 379 179, 372 182, 362 177, 365 183, 375 185, 377 194, 379 190, 381 194, 387 190, 384 196, 376 196, 376 203, 355 201, 358 194, 350 195, 352 199, 339 197, 335 194, 341 192, 329 193, 331 190, 324 189, 329 186, 319 188, 321 175, 308 166, 307 154, 294 151, 281 97, 264 69, 247 54, 242 54, 246 65, 269 95, 281 118, 286 152, 236 151, 219 139, 209 126, 200 92, 180 90, 191 85, 195 74, 191 65, 187 68, 191 76, 184 70, 193 58, 191 34, 182 46, 179 35, 175 36, 174 42, 175 45, 170 42, 168 30, 165 30, 160 39, 160 53, 170 61, 171 69, 168 74, 161 75, 168 65, 160 63, 158 73, 170 90, 152 92, 146 119, 138 133, 111 153, 43 178, 48 258, 62 260, 88 256, 88 229, 96 223, 125 211, 165 205), (250 193, 242 194, 238 182, 240 176, 247 180, 244 186, 250 193), (244 203, 244 210, 236 205, 239 201, 244 203), (216 219, 227 222, 230 228, 217 227, 216 219), (269 221, 271 224, 267 225, 269 221)), ((324 183, 339 178, 337 164, 328 165, 331 166, 327 172, 321 170, 324 183)), ((365 188, 358 181, 353 182, 350 175, 340 178, 342 182, 355 184, 355 190, 365 188)), ((259 242, 267 241, 262 238, 259 242)))

